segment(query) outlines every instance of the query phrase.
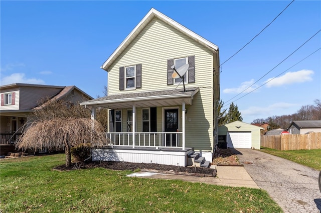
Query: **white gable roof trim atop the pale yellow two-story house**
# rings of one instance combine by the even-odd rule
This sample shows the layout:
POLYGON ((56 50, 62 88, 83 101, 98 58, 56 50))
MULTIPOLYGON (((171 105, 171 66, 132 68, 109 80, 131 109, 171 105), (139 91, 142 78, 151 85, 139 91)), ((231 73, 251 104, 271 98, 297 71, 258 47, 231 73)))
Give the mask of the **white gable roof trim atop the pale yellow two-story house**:
MULTIPOLYGON (((126 49, 126 47, 133 41, 133 39, 139 34, 139 32, 151 21, 153 17, 156 17, 167 24, 173 26, 177 30, 183 32, 192 39, 198 41, 205 47, 209 48, 211 51, 218 51, 219 48, 214 43, 206 40, 202 36, 196 34, 190 29, 186 28, 182 24, 176 22, 170 17, 164 15, 163 13, 151 8, 149 12, 143 17, 143 19, 136 25, 136 27, 127 35, 127 37, 121 42, 121 44, 116 48, 116 50, 108 57, 108 59, 101 65, 101 68, 108 71, 109 66, 114 62, 114 60, 126 49)), ((218 54, 217 54, 218 57, 218 54)), ((219 58, 217 58, 219 59, 219 58)), ((219 61, 219 60, 218 60, 219 61)))

